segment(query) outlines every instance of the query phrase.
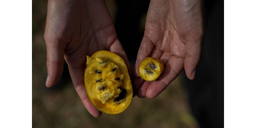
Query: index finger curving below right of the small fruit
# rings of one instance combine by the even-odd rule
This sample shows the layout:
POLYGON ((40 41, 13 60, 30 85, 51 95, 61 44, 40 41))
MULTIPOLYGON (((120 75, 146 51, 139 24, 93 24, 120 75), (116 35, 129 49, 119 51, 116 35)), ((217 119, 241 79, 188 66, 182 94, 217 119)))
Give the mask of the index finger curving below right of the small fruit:
POLYGON ((184 58, 172 56, 165 66, 164 73, 158 80, 149 85, 146 96, 154 98, 159 95, 164 89, 180 74, 184 65, 184 58))

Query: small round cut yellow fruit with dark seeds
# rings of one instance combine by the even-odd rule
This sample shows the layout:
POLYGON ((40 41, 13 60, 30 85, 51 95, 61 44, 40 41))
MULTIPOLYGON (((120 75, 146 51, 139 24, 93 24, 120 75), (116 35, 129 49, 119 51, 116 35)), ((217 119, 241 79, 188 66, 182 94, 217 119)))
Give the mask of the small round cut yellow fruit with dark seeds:
POLYGON ((147 57, 140 63, 139 76, 146 81, 156 80, 163 72, 164 64, 157 58, 147 57), (152 65, 152 63, 155 65, 152 65))

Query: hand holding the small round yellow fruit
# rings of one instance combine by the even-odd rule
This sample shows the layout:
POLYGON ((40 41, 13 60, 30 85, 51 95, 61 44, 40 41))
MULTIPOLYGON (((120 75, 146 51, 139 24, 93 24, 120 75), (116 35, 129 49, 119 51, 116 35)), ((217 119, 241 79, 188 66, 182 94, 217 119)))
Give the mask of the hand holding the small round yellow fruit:
POLYGON ((151 0, 134 68, 134 92, 140 98, 159 95, 185 68, 193 80, 202 54, 205 13, 201 0, 151 0), (140 62, 156 57, 164 73, 156 81, 139 76, 140 62))

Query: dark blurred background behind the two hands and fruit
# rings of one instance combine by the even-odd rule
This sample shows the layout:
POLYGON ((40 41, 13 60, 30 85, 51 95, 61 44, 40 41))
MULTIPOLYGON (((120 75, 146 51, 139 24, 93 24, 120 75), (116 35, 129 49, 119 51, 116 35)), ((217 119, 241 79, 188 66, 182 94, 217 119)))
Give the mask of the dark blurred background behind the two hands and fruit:
MULTIPOLYGON (((134 65, 144 33, 150 1, 106 0, 117 36, 134 65), (132 50, 130 44, 133 42, 132 50)), ((84 108, 64 64, 60 81, 45 87, 46 46, 44 28, 47 1, 32 1, 32 126, 35 128, 198 128, 224 127, 223 6, 220 1, 205 3, 208 26, 202 60, 196 79, 184 71, 154 99, 134 97, 121 114, 102 113, 94 118, 84 108)))

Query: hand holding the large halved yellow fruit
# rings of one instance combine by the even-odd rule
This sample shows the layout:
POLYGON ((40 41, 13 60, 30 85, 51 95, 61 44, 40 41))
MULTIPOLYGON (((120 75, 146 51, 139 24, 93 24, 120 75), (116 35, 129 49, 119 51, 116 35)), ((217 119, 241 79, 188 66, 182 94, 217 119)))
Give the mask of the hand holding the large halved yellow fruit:
MULTIPOLYGON (((132 73, 127 56, 103 0, 49 0, 44 39, 47 48, 46 86, 54 86, 63 71, 64 59, 85 108, 94 117, 97 110, 89 100, 84 86, 86 55, 109 50, 121 56, 132 73)), ((131 74, 130 74, 131 75, 131 74)))

